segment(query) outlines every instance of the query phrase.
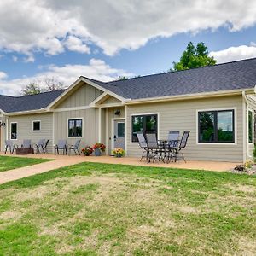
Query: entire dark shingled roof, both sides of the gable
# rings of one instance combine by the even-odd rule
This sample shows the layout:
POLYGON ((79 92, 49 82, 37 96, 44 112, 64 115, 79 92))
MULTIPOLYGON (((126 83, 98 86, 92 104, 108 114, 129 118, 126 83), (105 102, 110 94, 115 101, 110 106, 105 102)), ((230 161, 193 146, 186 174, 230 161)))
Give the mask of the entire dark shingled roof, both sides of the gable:
MULTIPOLYGON (((126 99, 250 89, 256 85, 256 58, 108 83, 89 80, 126 99)), ((55 90, 33 96, 0 96, 0 109, 10 113, 46 108, 63 91, 55 90)))

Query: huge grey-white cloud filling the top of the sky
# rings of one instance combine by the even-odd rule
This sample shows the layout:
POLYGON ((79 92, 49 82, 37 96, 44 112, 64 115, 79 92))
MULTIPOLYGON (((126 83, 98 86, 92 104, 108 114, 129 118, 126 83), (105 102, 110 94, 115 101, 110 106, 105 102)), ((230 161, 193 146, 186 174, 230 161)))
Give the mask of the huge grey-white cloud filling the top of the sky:
POLYGON ((114 55, 181 32, 219 26, 238 31, 255 25, 255 13, 254 0, 1 1, 0 49, 57 55, 66 44, 70 50, 89 53, 87 45, 93 43, 114 55))

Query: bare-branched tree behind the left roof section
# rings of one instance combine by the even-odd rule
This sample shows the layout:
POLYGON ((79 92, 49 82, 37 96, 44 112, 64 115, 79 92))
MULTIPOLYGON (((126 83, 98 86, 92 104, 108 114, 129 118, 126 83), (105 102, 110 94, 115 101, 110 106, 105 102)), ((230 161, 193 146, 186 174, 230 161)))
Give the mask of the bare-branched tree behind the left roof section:
POLYGON ((55 77, 45 77, 44 79, 37 79, 29 84, 26 84, 20 91, 20 95, 33 95, 45 91, 64 89, 64 84, 55 77))

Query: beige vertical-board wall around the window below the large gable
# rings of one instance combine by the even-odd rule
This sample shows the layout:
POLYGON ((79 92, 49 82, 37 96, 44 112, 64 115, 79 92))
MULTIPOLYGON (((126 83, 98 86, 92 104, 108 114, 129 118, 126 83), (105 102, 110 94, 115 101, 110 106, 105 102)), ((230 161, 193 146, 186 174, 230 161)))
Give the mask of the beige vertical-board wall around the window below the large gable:
POLYGON ((83 118, 84 120, 80 146, 91 146, 96 143, 99 136, 99 118, 96 108, 55 112, 55 143, 60 139, 67 139, 68 144, 75 143, 78 138, 68 138, 67 134, 67 119, 74 118, 83 118))

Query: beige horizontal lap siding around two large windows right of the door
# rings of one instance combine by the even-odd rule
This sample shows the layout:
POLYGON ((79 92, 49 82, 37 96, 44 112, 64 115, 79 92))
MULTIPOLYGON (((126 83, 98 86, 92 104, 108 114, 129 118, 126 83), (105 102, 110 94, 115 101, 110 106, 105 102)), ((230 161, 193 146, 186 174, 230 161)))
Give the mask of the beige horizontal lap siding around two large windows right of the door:
POLYGON ((166 139, 169 131, 190 130, 187 147, 183 150, 188 160, 242 161, 242 104, 241 96, 197 99, 179 102, 148 103, 127 106, 127 152, 130 156, 139 156, 141 149, 137 143, 131 143, 131 114, 159 113, 160 139, 166 139), (197 144, 196 110, 207 108, 236 108, 237 144, 215 145, 197 144))

